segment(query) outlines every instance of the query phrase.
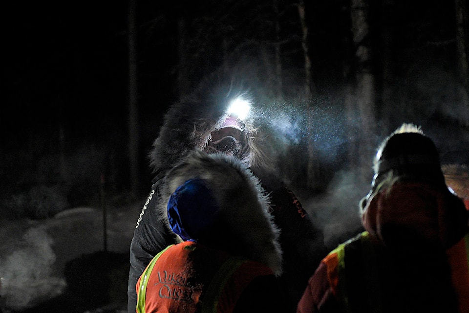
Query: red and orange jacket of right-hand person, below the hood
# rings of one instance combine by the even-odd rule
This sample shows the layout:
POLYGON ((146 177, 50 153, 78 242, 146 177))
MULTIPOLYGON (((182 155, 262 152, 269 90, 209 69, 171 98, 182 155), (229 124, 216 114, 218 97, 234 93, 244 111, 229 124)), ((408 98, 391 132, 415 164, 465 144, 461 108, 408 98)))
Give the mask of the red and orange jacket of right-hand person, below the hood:
MULTIPOLYGON (((386 270, 390 275, 396 272, 392 265, 384 260, 389 255, 380 251, 382 247, 376 246, 376 241, 370 238, 367 232, 341 244, 324 258, 320 267, 309 281, 309 285, 298 303, 298 313, 327 313, 327 312, 360 312, 360 313, 383 313, 383 312, 407 312, 406 309, 417 310, 414 312, 434 312, 418 308, 419 300, 415 294, 408 292, 412 286, 422 286, 420 282, 413 281, 413 277, 406 277, 408 286, 402 289, 395 288, 396 284, 389 284, 385 278, 386 270), (384 272, 383 272, 384 271, 384 272), (388 288, 389 287, 389 288, 388 288), (391 295, 395 292, 394 295, 391 295), (407 294, 402 294, 407 293, 407 294), (411 303, 412 301, 415 303, 411 303), (395 311, 396 307, 402 309, 395 311), (407 307, 405 307, 407 305, 407 307), (412 305, 414 307, 412 307, 412 305)), ((469 234, 462 238, 456 245, 446 251, 448 256, 451 283, 457 296, 457 310, 451 309, 445 296, 441 301, 436 299, 441 307, 435 307, 435 312, 459 312, 469 313, 469 234), (465 264, 466 266, 461 266, 465 264), (442 309, 443 308, 443 309, 442 309)), ((395 262, 396 259, 391 259, 395 262)), ((406 257, 398 259, 408 261, 406 257)), ((397 265, 398 267, 400 265, 397 265)), ((409 272, 412 272, 409 270, 409 272)), ((435 275, 434 272, 424 273, 428 276, 435 275)), ((398 275, 399 276, 399 275, 398 275)), ((417 275, 415 279, 418 279, 417 275)), ((388 280, 388 279, 387 279, 388 280)), ((404 283, 404 282, 403 282, 404 283)), ((397 285, 399 287, 399 285, 397 285)), ((435 299, 426 298, 423 295, 422 302, 431 303, 435 299)), ((439 294, 437 295, 439 296, 439 294)), ((449 298, 451 295, 449 295, 449 298)), ((425 304, 424 304, 425 305, 425 304)), ((412 311, 411 310, 411 311, 412 311)))

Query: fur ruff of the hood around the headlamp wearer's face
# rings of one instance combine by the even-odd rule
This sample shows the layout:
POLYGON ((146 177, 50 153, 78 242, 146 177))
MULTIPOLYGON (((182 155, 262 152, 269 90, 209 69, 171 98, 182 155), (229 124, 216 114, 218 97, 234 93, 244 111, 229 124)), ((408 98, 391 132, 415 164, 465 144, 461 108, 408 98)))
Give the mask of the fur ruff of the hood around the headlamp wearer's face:
MULTIPOLYGON (((189 96, 174 103, 164 117, 157 139, 149 154, 151 170, 159 178, 192 150, 204 150, 211 134, 229 116, 230 103, 237 97, 255 102, 253 94, 243 82, 218 73, 211 75, 189 96)), ((254 118, 243 119, 247 133, 248 155, 243 161, 252 168, 272 167, 272 160, 260 148, 254 118)), ((260 170, 259 170, 260 171, 260 170)))

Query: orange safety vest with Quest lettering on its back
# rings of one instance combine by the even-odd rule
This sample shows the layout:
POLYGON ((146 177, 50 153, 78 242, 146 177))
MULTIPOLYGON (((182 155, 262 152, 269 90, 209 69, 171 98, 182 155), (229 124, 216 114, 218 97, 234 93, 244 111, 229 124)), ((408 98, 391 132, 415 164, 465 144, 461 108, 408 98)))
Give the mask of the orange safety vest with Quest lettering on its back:
POLYGON ((137 313, 233 312, 244 289, 267 266, 186 241, 168 246, 137 281, 137 313))

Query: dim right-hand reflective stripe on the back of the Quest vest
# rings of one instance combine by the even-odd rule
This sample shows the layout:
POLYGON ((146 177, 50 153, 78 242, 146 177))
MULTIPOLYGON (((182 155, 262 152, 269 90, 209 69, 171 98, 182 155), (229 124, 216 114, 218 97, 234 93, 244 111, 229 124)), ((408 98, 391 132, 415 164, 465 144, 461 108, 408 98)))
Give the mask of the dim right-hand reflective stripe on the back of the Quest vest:
POLYGON ((225 261, 213 276, 207 293, 205 295, 204 304, 201 313, 216 313, 218 301, 227 281, 231 278, 236 269, 249 260, 241 257, 233 257, 225 261))

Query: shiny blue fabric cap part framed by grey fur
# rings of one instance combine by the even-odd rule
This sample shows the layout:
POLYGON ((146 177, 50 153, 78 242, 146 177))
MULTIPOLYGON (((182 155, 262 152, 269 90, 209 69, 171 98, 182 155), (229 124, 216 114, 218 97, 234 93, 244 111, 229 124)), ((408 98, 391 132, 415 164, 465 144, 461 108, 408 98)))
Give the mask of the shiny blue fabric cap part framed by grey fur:
POLYGON ((197 241, 215 220, 216 202, 202 179, 189 179, 176 188, 168 201, 172 231, 184 241, 197 241))

